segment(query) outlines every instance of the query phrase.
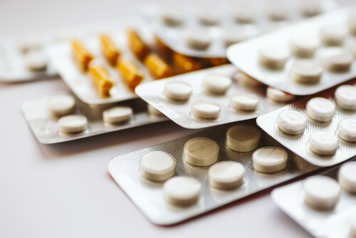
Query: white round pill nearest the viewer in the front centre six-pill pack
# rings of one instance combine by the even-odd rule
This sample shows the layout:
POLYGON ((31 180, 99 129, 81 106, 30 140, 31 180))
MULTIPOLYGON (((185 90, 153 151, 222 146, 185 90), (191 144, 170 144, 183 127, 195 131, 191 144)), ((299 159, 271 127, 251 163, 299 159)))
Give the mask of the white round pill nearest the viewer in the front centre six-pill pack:
POLYGON ((164 182, 163 190, 169 204, 189 206, 199 200, 201 184, 194 177, 178 176, 164 182))

